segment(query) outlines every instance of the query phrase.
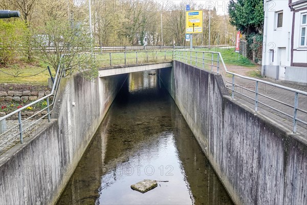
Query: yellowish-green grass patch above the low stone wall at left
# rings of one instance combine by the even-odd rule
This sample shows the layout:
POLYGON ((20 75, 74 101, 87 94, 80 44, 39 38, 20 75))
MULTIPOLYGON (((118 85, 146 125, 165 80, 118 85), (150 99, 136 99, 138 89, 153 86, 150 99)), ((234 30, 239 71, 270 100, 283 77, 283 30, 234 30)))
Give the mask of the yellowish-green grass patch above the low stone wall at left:
MULTIPOLYGON (((50 77, 49 72, 46 69, 47 64, 42 63, 41 61, 35 61, 34 63, 25 63, 20 61, 10 67, 0 66, 0 84, 26 84, 45 86, 48 85, 48 78, 50 77), (1 71, 4 71, 8 74, 1 71), (35 75, 37 73, 40 74, 35 75)), ((53 74, 55 74, 53 68, 51 68, 51 71, 53 74)))

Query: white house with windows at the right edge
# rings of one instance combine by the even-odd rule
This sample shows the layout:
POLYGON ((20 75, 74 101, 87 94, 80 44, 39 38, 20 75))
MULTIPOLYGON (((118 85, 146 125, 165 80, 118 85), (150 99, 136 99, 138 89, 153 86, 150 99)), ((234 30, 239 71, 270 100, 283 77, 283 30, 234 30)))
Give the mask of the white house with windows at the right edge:
POLYGON ((307 0, 265 0, 261 74, 307 83, 307 0))

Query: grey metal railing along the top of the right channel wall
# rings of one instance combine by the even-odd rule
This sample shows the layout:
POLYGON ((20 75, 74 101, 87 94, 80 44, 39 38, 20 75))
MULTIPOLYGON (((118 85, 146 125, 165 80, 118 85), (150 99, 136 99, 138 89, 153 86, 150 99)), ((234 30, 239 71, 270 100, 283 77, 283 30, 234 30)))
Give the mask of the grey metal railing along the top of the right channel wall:
POLYGON ((307 122, 298 118, 298 111, 301 112, 304 116, 307 114, 306 110, 303 110, 298 107, 298 101, 299 101, 299 94, 303 96, 307 96, 307 92, 292 89, 286 86, 281 86, 278 84, 273 84, 265 80, 247 77, 243 75, 239 75, 233 72, 230 72, 227 70, 227 67, 224 63, 223 57, 220 52, 208 52, 208 51, 196 51, 196 50, 176 50, 174 53, 174 58, 182 61, 183 63, 190 64, 202 69, 209 70, 211 72, 215 72, 217 74, 221 74, 224 80, 224 83, 226 85, 226 88, 231 93, 231 98, 234 99, 234 94, 237 93, 239 95, 242 95, 250 100, 253 100, 254 102, 254 111, 258 111, 259 104, 263 105, 269 109, 272 109, 276 112, 279 112, 280 114, 290 117, 292 119, 292 131, 293 133, 297 132, 297 122, 301 122, 303 125, 307 125, 307 122), (230 75, 232 78, 231 81, 227 79, 227 74, 230 75), (239 85, 239 83, 235 83, 235 76, 240 79, 250 80, 255 83, 254 90, 249 87, 244 87, 242 85, 239 85), (293 93, 293 105, 290 105, 289 102, 284 102, 279 99, 276 99, 272 96, 268 96, 266 94, 262 94, 259 92, 259 84, 268 85, 274 88, 280 88, 286 91, 290 91, 293 93), (248 94, 244 92, 238 92, 236 88, 240 88, 242 90, 246 90, 247 92, 253 93, 254 96, 249 96, 248 94), (268 103, 265 103, 264 101, 259 100, 259 96, 262 97, 262 99, 269 99, 276 103, 278 103, 278 106, 272 106, 268 105, 268 103), (280 107, 279 105, 286 106, 288 109, 293 109, 292 114, 286 113, 285 110, 280 110, 277 107, 280 107))

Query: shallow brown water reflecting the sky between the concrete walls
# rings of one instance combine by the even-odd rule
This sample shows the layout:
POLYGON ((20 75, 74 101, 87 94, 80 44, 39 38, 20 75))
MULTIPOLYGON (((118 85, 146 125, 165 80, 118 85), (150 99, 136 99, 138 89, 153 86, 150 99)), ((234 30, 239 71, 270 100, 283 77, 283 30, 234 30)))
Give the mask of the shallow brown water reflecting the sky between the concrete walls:
POLYGON ((155 71, 129 74, 57 204, 233 204, 149 73, 155 71), (143 179, 158 187, 144 194, 130 188, 143 179))

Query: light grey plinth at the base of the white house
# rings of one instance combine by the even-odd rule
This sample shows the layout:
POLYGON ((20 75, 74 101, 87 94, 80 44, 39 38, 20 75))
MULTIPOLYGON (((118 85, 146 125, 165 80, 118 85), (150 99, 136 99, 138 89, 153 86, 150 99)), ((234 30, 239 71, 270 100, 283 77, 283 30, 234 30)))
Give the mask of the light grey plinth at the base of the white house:
POLYGON ((303 67, 286 67, 284 80, 307 83, 307 68, 303 67))

